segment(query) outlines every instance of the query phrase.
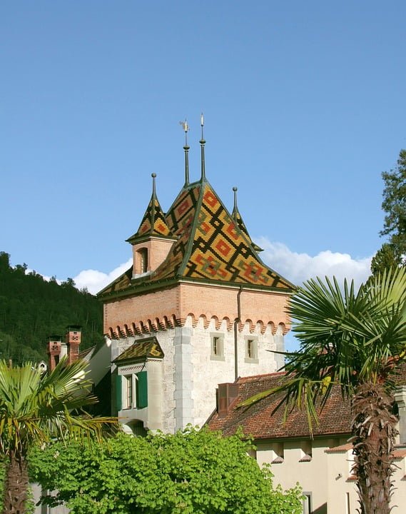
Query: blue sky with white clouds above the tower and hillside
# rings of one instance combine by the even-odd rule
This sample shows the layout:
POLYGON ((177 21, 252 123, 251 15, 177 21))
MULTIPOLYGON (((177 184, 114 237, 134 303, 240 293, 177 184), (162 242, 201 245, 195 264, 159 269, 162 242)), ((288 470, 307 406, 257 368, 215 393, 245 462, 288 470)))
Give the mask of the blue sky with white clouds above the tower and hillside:
POLYGON ((300 283, 367 275, 381 172, 406 147, 406 3, 0 4, 0 250, 96 291, 151 195, 183 185, 183 131, 263 259, 300 283))

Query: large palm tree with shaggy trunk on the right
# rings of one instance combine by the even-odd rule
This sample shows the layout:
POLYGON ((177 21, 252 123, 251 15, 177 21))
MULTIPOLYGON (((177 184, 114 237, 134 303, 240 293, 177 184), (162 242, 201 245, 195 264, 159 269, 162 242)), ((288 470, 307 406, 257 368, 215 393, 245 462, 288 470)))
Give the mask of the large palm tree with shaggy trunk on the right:
POLYGON ((393 379, 405 362, 406 271, 378 274, 356 292, 333 279, 317 278, 290 301, 300 352, 285 365, 286 381, 245 401, 249 405, 283 391, 285 415, 305 408, 310 432, 333 387, 352 406, 353 473, 362 514, 389 514, 391 453, 397 435, 392 413, 393 379))

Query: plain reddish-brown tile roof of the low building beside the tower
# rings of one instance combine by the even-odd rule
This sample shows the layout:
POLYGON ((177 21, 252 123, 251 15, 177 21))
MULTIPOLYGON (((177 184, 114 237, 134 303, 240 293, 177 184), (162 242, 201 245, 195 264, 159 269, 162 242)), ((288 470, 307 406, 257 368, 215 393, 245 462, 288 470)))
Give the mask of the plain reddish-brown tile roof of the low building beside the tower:
MULTIPOLYGON (((392 378, 397 385, 406 384, 406 365, 400 366, 392 378)), ((243 428, 245 435, 254 439, 273 439, 308 437, 308 419, 305 410, 293 410, 284 423, 284 408, 280 407, 275 413, 283 395, 278 393, 263 398, 258 403, 247 408, 235 408, 243 400, 251 398, 264 390, 275 388, 285 380, 285 373, 270 373, 238 379, 238 398, 236 398, 228 415, 220 417, 218 413, 210 416, 207 425, 212 430, 222 430, 225 435, 232 435, 243 428)), ((341 435, 350 433, 351 410, 350 401, 342 400, 340 388, 333 388, 330 398, 323 410, 319 410, 319 425, 313 426, 313 435, 341 435)))

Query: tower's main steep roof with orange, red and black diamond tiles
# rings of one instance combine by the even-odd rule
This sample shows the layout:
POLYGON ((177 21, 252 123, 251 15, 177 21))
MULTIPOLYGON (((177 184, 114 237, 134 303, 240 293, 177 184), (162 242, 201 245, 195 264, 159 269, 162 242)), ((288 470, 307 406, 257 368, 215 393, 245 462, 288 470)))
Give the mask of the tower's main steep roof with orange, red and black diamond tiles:
MULTIPOLYGON (((131 286, 138 288, 182 278, 293 291, 292 283, 260 260, 257 254, 260 248, 251 241, 242 218, 234 218, 228 212, 207 180, 184 186, 166 213, 165 221, 176 241, 161 266, 150 275, 134 280, 129 270, 99 296, 131 286)), ((143 234, 152 235, 148 227, 146 224, 143 234)), ((128 241, 139 237, 141 228, 128 241)))

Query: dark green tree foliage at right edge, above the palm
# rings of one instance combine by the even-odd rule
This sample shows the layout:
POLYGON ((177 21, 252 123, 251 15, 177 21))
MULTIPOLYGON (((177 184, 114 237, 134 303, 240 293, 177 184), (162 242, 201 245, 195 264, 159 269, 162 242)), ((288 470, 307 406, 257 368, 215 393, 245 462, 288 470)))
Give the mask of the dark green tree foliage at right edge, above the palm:
POLYGON ((385 182, 382 209, 385 211, 382 236, 390 236, 397 258, 406 255, 406 150, 401 150, 394 170, 382 173, 385 182))

